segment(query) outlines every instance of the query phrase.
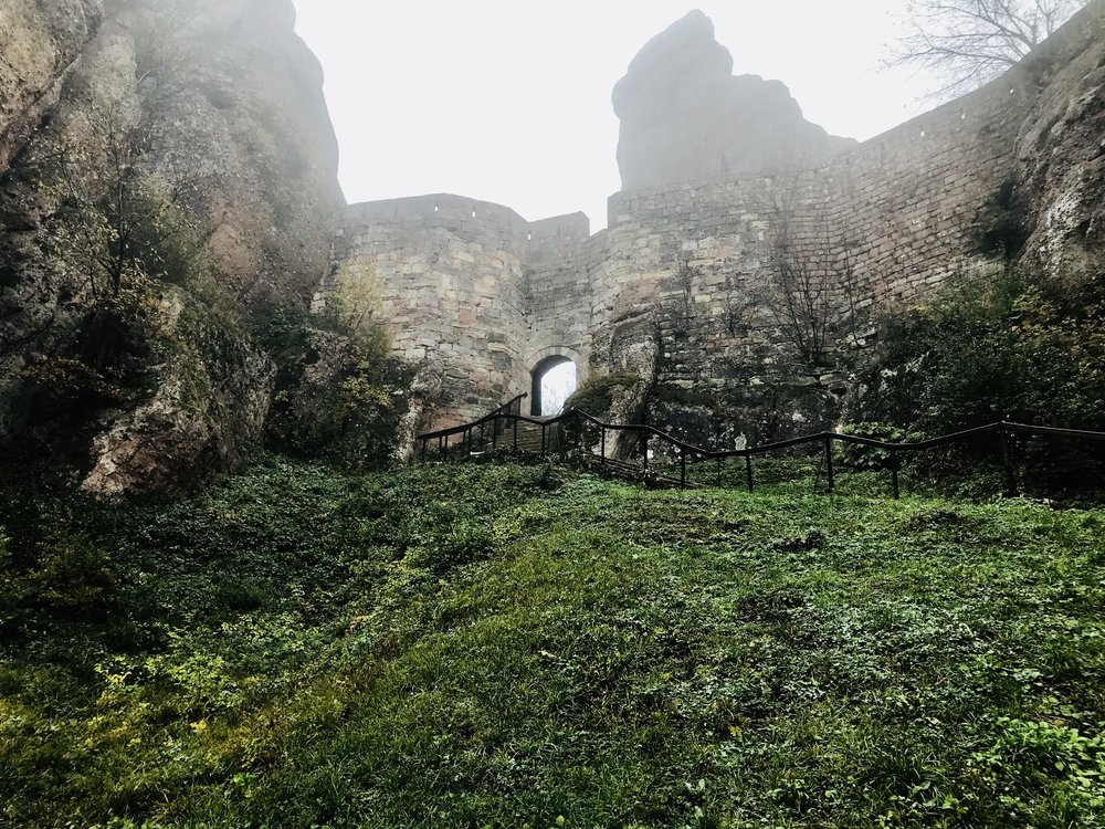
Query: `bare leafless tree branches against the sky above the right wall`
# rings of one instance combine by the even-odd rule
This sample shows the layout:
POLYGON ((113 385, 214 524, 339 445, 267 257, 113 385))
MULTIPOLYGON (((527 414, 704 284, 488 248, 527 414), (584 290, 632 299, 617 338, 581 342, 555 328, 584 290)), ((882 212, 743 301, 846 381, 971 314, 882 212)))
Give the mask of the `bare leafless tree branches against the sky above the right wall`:
POLYGON ((1087 0, 909 0, 908 31, 887 66, 939 78, 929 97, 948 101, 991 81, 1044 41, 1087 0))

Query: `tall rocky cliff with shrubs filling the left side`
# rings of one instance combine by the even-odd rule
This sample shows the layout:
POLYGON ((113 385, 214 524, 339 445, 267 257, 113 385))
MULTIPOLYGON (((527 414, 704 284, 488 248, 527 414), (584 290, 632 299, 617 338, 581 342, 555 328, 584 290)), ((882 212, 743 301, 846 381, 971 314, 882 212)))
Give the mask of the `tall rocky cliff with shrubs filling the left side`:
POLYGON ((326 267, 337 145, 290 0, 105 7, 0 0, 0 442, 187 489, 261 433, 254 333, 326 267))

